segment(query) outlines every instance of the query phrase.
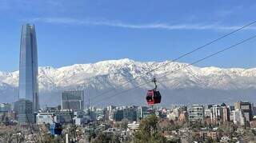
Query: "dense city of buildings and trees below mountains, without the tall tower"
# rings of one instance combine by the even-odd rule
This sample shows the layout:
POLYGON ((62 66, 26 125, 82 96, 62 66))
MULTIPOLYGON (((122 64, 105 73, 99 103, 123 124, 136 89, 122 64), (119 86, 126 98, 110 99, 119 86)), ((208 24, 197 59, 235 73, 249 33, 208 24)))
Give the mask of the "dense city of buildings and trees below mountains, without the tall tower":
POLYGON ((250 142, 256 139, 256 107, 170 105, 90 106, 83 91, 62 92, 61 105, 40 109, 29 125, 17 121, 17 104, 2 103, 0 142, 250 142), (65 100, 65 99, 69 100, 65 100))

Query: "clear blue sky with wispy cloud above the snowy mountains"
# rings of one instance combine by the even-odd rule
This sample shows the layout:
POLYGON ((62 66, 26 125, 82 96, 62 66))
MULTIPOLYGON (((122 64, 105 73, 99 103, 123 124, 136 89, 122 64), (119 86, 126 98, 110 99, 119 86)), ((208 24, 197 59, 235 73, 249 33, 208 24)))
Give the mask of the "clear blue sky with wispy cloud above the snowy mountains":
MULTIPOLYGON (((177 58, 256 20, 253 0, 0 0, 0 70, 18 70, 21 26, 36 25, 39 66, 177 58)), ((256 34, 256 25, 179 62, 194 62, 256 34)), ((256 67, 256 40, 197 66, 256 67)))

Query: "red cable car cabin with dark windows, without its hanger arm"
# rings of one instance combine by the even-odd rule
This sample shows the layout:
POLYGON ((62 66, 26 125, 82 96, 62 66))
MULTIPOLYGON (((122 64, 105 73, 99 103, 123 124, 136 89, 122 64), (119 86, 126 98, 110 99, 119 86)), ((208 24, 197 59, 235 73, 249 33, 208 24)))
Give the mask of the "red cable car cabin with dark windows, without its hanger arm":
POLYGON ((148 90, 146 93, 146 101, 148 105, 154 105, 161 102, 161 94, 157 89, 148 90))

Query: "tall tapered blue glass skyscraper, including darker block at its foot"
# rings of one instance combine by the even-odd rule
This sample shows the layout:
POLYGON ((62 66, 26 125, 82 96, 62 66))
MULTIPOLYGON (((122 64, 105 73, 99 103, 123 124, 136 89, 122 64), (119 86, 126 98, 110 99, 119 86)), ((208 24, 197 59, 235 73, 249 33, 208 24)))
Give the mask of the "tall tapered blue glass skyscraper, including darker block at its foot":
POLYGON ((38 103, 38 50, 34 25, 22 26, 18 84, 18 121, 34 121, 38 103))

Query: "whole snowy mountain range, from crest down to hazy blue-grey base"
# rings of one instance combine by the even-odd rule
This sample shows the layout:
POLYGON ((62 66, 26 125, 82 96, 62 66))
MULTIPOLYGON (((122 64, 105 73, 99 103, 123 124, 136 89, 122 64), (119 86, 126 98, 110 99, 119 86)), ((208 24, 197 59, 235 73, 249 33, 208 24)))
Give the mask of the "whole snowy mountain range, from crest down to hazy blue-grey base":
MULTIPOLYGON (((145 105, 146 90, 154 88, 150 82, 154 77, 162 93, 162 105, 256 101, 256 68, 201 68, 127 58, 61 68, 39 67, 39 100, 42 106, 58 105, 63 90, 83 89, 86 102, 90 98, 93 105, 145 105), (156 67, 158 70, 150 72, 156 67)), ((18 71, 0 72, 0 102, 17 99, 18 71)))

